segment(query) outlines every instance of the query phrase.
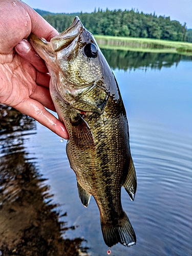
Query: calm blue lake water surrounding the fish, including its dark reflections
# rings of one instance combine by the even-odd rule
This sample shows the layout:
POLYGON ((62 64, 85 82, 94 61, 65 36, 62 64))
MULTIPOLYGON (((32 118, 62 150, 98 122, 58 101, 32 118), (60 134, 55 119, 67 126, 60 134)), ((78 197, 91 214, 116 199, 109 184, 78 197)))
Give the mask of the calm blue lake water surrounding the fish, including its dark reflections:
MULTIPOLYGON (((103 53, 124 101, 138 179, 134 202, 122 189, 137 244, 115 245, 111 255, 192 255, 192 58, 103 53)), ((98 207, 78 198, 66 142, 13 110, 2 107, 0 118, 0 255, 107 255, 98 207)))

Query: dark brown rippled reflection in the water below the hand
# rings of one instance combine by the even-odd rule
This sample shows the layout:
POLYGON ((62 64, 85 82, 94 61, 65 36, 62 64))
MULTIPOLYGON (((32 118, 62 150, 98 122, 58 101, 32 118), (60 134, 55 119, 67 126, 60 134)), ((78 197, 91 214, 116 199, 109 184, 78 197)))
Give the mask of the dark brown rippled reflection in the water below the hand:
POLYGON ((0 113, 0 255, 88 255, 83 239, 63 239, 75 227, 59 221, 67 213, 56 210, 24 147, 22 131, 34 131, 35 121, 6 106, 0 113))

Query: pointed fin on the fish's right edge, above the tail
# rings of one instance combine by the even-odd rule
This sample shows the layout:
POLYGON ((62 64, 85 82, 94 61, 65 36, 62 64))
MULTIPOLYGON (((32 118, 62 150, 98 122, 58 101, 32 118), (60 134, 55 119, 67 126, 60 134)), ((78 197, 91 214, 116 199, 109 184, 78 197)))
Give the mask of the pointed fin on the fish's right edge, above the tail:
POLYGON ((137 189, 137 177, 132 157, 130 158, 130 166, 123 187, 125 188, 131 200, 133 201, 137 189))

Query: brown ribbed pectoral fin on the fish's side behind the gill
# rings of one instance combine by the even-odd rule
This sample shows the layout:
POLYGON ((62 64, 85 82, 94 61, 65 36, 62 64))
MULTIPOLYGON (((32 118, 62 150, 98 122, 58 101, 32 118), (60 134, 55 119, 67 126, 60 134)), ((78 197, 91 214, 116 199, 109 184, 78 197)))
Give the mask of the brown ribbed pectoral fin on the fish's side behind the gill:
POLYGON ((86 150, 87 148, 94 149, 95 144, 93 135, 88 123, 81 117, 77 116, 75 122, 72 122, 72 135, 75 144, 79 149, 86 150))

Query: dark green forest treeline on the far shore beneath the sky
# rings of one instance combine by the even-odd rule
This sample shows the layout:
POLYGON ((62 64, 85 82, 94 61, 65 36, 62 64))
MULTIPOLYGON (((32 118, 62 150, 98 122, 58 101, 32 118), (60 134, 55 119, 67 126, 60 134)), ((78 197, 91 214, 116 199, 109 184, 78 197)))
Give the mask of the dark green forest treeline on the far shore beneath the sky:
MULTIPOLYGON (((41 14, 42 15, 42 14, 41 14)), ((44 18, 59 32, 73 22, 77 14, 48 14, 44 18)), ((99 10, 78 13, 82 24, 93 34, 126 37, 156 38, 174 41, 189 41, 186 24, 181 25, 170 17, 144 14, 131 10, 99 10)))

